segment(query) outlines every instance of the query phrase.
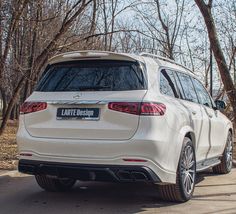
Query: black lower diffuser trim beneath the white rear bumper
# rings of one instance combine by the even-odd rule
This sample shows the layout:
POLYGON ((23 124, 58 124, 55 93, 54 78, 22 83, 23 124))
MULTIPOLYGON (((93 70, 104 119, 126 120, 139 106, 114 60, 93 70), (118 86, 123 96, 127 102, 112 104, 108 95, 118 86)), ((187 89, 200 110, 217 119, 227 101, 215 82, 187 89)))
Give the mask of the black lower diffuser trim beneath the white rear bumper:
POLYGON ((31 175, 50 175, 83 181, 161 182, 146 166, 69 164, 22 159, 19 161, 18 169, 19 172, 31 175))

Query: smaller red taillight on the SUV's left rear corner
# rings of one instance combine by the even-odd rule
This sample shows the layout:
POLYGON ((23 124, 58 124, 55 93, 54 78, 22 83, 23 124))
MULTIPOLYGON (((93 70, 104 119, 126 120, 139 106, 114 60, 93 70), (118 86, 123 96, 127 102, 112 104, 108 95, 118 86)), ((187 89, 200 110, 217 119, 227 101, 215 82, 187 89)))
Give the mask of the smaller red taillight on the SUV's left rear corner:
POLYGON ((36 111, 42 111, 47 108, 45 102, 24 102, 20 107, 21 114, 28 114, 36 111))

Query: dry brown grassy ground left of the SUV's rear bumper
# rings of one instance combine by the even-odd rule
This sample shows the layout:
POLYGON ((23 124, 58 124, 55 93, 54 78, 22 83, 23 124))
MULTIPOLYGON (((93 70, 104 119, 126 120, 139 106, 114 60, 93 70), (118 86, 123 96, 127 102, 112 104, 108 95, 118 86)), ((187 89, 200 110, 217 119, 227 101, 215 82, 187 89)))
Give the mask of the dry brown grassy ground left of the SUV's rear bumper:
POLYGON ((9 122, 5 133, 0 136, 0 169, 17 168, 17 127, 16 122, 9 122))

